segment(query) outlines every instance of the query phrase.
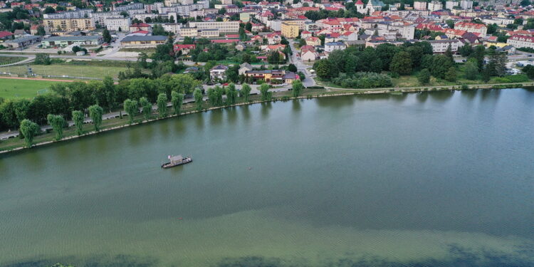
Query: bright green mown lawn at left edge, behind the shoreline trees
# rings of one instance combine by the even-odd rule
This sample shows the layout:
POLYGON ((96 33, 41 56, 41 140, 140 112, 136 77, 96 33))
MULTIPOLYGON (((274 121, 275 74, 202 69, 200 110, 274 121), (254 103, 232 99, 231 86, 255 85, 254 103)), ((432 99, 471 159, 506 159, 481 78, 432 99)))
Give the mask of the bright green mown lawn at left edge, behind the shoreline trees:
POLYGON ((0 79, 0 98, 33 98, 39 93, 45 93, 46 89, 58 82, 48 80, 16 80, 0 79))

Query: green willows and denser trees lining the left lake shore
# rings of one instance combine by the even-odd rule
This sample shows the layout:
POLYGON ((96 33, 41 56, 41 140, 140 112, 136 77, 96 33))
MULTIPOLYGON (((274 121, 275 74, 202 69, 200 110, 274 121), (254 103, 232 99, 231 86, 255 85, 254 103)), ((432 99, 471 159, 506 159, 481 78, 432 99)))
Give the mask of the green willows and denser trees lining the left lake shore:
MULTIPOLYGON (((39 127, 38 122, 41 124, 48 123, 52 127, 53 132, 56 133, 55 140, 61 140, 63 138, 63 129, 68 127, 67 120, 70 119, 74 122, 76 134, 83 135, 85 114, 88 114, 92 120, 93 130, 95 132, 100 131, 104 108, 99 105, 99 100, 104 100, 103 103, 108 104, 104 106, 111 111, 118 105, 115 101, 121 99, 117 97, 119 95, 117 91, 120 91, 120 88, 127 90, 124 93, 125 96, 130 96, 130 98, 122 101, 122 108, 128 115, 130 125, 135 122, 135 116, 140 114, 142 115, 142 120, 150 120, 153 110, 152 103, 156 103, 157 116, 159 118, 167 117, 169 115, 169 109, 167 108, 169 99, 172 105, 172 114, 181 114, 184 97, 191 93, 195 100, 196 110, 201 111, 204 109, 204 95, 197 81, 192 80, 189 75, 179 74, 169 75, 169 77, 164 79, 154 80, 152 82, 144 79, 132 79, 128 81, 127 85, 122 86, 121 84, 114 85, 110 78, 105 78, 102 82, 91 82, 87 84, 69 83, 53 85, 51 93, 39 95, 31 101, 9 100, 2 103, 0 105, 0 117, 4 122, 9 122, 9 125, 17 125, 21 137, 25 139, 26 147, 31 147, 33 145, 33 137, 41 132, 41 127, 39 127), (165 84, 165 82, 169 82, 170 84, 165 84), (161 93, 152 95, 154 92, 150 88, 155 90, 155 86, 151 86, 150 83, 157 83, 159 86, 163 86, 157 89, 161 93), (169 87, 165 87, 165 85, 169 87), (107 86, 109 88, 105 89, 107 86), (103 92, 100 92, 101 95, 94 93, 95 88, 103 90, 103 92), (169 88, 170 91, 167 94, 169 88), (89 94, 90 91, 93 91, 93 93, 89 94), (60 93, 63 94, 60 95, 60 93), (102 97, 102 99, 98 97, 102 97), (63 105, 56 106, 56 103, 62 103, 63 105), (41 108, 42 110, 33 114, 30 112, 31 108, 41 108), (33 117, 32 120, 30 115, 39 117, 33 117)), ((260 99, 262 101, 271 100, 272 92, 269 91, 269 88, 270 85, 266 83, 260 86, 260 99)), ((304 86, 300 80, 295 80, 292 88, 292 96, 298 97, 302 93, 304 86)), ((238 96, 241 97, 242 102, 249 103, 251 90, 251 86, 246 83, 241 86, 241 90, 239 91, 236 90, 236 86, 233 83, 226 86, 226 88, 215 86, 207 90, 208 103, 211 107, 235 105, 238 103, 238 96), (226 95, 226 100, 223 99, 223 95, 226 95)))

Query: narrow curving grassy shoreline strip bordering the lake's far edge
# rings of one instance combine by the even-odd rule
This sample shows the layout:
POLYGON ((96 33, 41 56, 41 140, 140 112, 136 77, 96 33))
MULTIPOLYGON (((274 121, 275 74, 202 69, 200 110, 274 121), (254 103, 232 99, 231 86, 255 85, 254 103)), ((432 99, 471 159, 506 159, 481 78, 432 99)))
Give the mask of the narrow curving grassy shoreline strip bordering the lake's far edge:
POLYGON ((298 96, 296 98, 293 98, 293 97, 286 98, 286 97, 282 96, 282 97, 277 97, 277 98, 273 98, 271 100, 265 100, 265 101, 257 100, 257 101, 253 101, 253 102, 249 102, 249 103, 237 103, 237 104, 234 104, 234 105, 223 105, 223 106, 219 106, 219 107, 210 107, 210 108, 205 108, 205 109, 200 110, 200 111, 192 110, 192 111, 188 111, 188 112, 183 112, 183 113, 181 113, 179 115, 171 114, 171 115, 168 115, 167 117, 162 117, 162 118, 157 117, 157 118, 151 119, 151 120, 142 120, 141 122, 134 122, 131 125, 130 124, 125 124, 125 125, 120 125, 120 126, 115 126, 115 127, 109 127, 109 128, 100 130, 98 132, 95 132, 93 130, 93 131, 90 131, 90 132, 86 132, 83 135, 71 135, 71 136, 68 136, 68 137, 63 137, 61 140, 58 140, 58 141, 51 140, 51 141, 46 141, 46 142, 38 142, 36 144, 33 144, 31 147, 21 146, 21 147, 15 147, 15 148, 13 148, 11 150, 1 150, 0 151, 0 155, 5 155, 5 154, 7 154, 9 152, 18 152, 18 151, 22 151, 22 150, 27 150, 27 149, 35 148, 35 147, 42 147, 42 146, 50 145, 50 144, 57 143, 57 142, 75 140, 76 138, 80 138, 80 137, 96 135, 96 134, 98 134, 100 132, 109 132, 109 131, 112 131, 112 130, 118 130, 118 129, 122 129, 122 128, 125 128, 125 127, 130 127, 130 126, 134 126, 134 125, 143 125, 143 124, 150 123, 150 122, 156 122, 158 120, 166 120, 166 119, 172 118, 172 117, 190 115, 190 114, 194 114, 194 113, 198 113, 198 112, 207 112, 207 111, 210 111, 210 110, 218 110, 218 109, 222 109, 222 108, 237 107, 237 106, 241 106, 241 105, 254 105, 254 104, 277 102, 277 101, 286 102, 288 100, 328 98, 328 97, 346 96, 346 95, 377 95, 377 94, 392 94, 392 93, 422 93, 422 92, 436 92, 436 91, 445 91, 445 90, 448 90, 448 91, 454 91, 454 90, 459 90, 459 91, 461 91, 461 90, 487 90, 487 89, 502 90, 502 89, 523 88, 525 86, 533 86, 533 85, 534 85, 534 83, 528 83, 528 84, 524 84, 524 83, 521 83, 521 84, 518 84, 518 83, 504 84, 503 83, 503 84, 475 85, 473 87, 469 87, 468 89, 461 89, 461 85, 457 85, 457 86, 443 85, 443 86, 434 86, 434 87, 431 87, 431 88, 429 88, 429 87, 421 87, 421 88, 394 88, 394 89, 393 88, 352 89, 352 88, 330 88, 330 87, 326 87, 325 86, 324 88, 333 89, 333 90, 347 90, 347 93, 331 93, 331 94, 329 94, 329 93, 320 93, 320 94, 316 94, 316 95, 300 95, 300 96, 298 96), (498 88, 498 87, 505 86, 505 85, 508 85, 508 86, 506 86, 506 88, 498 88), (521 86, 513 87, 513 85, 521 85, 521 86))

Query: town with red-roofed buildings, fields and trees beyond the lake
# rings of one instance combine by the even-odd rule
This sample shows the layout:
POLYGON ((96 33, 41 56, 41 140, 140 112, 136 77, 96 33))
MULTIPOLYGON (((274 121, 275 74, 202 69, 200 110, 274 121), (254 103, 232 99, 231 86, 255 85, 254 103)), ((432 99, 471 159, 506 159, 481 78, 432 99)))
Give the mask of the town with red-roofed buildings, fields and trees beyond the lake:
POLYGON ((42 130, 51 129, 54 113, 72 119, 70 126, 75 111, 93 121, 94 105, 105 108, 96 113, 105 119, 124 111, 142 121, 141 100, 150 120, 150 110, 167 105, 179 115, 177 101, 202 110, 303 92, 511 86, 534 78, 528 0, 3 1, 0 8, 0 78, 8 92, 0 93, 0 140, 19 136, 13 130, 24 119, 42 130), (52 84, 63 80, 75 83, 52 84), (63 106, 16 112, 36 96, 63 106), (127 101, 137 109, 128 112, 127 101))

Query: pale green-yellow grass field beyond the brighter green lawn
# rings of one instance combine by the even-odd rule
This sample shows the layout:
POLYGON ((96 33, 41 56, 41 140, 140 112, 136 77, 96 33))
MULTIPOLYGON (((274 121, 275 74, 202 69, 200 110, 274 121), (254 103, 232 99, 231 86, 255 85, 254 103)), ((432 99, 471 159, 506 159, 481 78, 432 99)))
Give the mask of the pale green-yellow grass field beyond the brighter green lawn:
MULTIPOLYGON (((117 78, 120 71, 125 71, 125 67, 115 66, 83 66, 75 64, 51 64, 51 65, 31 65, 33 73, 36 75, 67 75, 69 77, 88 77, 88 78, 104 78, 110 75, 112 78, 117 78)), ((27 74, 26 66, 8 66, 0 68, 0 71, 27 74)))

